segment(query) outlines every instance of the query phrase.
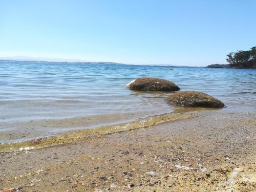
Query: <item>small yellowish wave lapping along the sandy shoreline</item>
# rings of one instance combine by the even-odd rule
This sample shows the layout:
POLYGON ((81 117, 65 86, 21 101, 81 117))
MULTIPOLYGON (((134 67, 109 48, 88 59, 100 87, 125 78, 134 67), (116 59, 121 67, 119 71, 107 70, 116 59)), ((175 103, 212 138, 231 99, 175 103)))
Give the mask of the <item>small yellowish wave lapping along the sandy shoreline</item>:
POLYGON ((101 126, 94 129, 70 131, 61 135, 35 139, 31 141, 2 143, 0 144, 0 153, 16 152, 16 151, 20 151, 20 148, 34 150, 42 147, 49 147, 49 146, 54 146, 58 144, 71 143, 71 142, 75 142, 90 136, 106 135, 106 134, 112 134, 112 133, 123 132, 128 130, 135 130, 139 128, 146 129, 147 127, 151 127, 159 123, 175 121, 178 119, 185 119, 190 116, 191 116, 191 113, 185 113, 185 114, 169 113, 169 114, 148 117, 145 119, 139 119, 139 120, 128 122, 128 123, 101 126))

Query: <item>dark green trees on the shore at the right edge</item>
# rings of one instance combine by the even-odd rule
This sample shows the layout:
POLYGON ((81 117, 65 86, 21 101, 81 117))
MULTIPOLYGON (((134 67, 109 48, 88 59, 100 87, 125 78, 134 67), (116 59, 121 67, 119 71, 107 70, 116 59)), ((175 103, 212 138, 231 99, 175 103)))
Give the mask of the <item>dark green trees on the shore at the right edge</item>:
POLYGON ((256 47, 248 51, 229 52, 226 60, 231 68, 256 69, 256 47))

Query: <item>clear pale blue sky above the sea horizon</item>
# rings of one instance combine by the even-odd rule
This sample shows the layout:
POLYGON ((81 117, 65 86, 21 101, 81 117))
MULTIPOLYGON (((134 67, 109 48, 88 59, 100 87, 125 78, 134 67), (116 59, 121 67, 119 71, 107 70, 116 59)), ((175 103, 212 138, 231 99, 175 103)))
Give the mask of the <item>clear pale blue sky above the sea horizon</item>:
POLYGON ((256 1, 3 0, 0 57, 206 66, 256 46, 256 1))

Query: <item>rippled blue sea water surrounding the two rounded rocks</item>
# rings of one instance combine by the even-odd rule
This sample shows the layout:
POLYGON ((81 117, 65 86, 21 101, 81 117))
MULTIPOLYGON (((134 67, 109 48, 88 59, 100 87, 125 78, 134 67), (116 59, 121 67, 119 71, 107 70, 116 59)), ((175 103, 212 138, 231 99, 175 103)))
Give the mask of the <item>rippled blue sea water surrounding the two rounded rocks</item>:
POLYGON ((145 76, 206 92, 222 100, 224 110, 255 110, 256 70, 0 61, 0 142, 173 112, 165 101, 170 93, 124 88, 145 76))

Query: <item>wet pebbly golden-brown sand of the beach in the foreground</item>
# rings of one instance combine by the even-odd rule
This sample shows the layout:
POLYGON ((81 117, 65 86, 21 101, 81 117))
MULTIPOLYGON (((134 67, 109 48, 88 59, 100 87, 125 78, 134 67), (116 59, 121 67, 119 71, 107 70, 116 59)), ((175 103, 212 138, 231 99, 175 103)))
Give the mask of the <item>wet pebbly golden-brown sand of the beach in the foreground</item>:
POLYGON ((146 129, 1 153, 0 191, 254 191, 256 113, 187 114, 146 129))

